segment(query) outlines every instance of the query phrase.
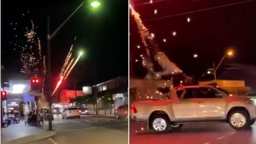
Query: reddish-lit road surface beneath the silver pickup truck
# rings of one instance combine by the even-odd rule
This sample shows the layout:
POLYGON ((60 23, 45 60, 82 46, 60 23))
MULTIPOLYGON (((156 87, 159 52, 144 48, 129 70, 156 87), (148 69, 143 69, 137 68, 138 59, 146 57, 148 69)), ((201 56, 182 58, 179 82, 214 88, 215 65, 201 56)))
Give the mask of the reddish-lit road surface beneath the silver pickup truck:
POLYGON ((256 144, 256 124, 244 131, 233 130, 226 123, 187 124, 179 132, 163 134, 144 128, 145 124, 130 123, 130 144, 256 144))

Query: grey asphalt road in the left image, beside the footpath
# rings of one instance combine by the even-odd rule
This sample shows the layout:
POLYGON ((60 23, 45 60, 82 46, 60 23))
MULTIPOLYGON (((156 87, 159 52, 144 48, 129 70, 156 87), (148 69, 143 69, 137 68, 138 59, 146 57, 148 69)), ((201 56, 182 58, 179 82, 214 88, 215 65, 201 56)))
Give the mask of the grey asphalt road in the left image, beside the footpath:
POLYGON ((55 136, 30 144, 128 143, 127 120, 119 120, 113 116, 86 115, 81 118, 62 119, 60 115, 55 115, 53 129, 57 130, 55 136))

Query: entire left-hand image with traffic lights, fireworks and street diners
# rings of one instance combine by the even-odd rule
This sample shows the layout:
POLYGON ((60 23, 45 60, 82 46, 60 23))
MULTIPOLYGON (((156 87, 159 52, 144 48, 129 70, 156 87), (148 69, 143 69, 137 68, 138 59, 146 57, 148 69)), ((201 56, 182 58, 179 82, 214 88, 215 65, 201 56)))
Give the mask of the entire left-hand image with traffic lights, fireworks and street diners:
POLYGON ((128 1, 1 10, 1 143, 128 143, 128 1))

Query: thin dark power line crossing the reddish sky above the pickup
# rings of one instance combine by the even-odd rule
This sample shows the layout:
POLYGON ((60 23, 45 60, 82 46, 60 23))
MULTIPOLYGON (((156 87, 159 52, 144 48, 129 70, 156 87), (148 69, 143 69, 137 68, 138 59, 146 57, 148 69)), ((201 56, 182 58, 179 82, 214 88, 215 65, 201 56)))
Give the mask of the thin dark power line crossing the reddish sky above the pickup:
POLYGON ((143 20, 143 21, 151 21, 151 20, 156 20, 156 19, 163 19, 163 18, 168 18, 168 17, 173 17, 173 16, 179 16, 179 15, 185 15, 185 14, 196 13, 196 12, 201 12, 201 11, 207 11, 207 10, 212 10, 212 9, 218 9, 218 8, 223 8, 223 7, 233 6, 233 5, 249 3, 249 2, 253 2, 253 1, 255 1, 255 0, 248 0, 248 1, 238 2, 238 3, 221 5, 221 6, 217 6, 217 7, 211 7, 211 8, 205 8, 205 9, 189 11, 189 12, 184 12, 184 13, 172 14, 172 15, 167 15, 167 16, 162 16, 162 17, 157 17, 157 18, 146 19, 146 20, 143 20))

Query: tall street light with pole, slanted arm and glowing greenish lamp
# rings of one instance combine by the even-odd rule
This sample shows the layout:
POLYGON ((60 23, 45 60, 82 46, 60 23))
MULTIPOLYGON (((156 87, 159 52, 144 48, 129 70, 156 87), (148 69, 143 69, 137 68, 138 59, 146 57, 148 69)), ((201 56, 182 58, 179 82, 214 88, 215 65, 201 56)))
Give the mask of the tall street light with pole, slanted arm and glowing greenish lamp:
MULTIPOLYGON (((50 41, 51 39, 57 34, 57 32, 68 22, 68 20, 77 12, 77 10, 84 4, 85 2, 82 2, 76 10, 68 17, 66 18, 60 25, 59 27, 52 33, 50 34, 50 16, 47 16, 47 69, 48 69, 48 74, 47 74, 47 82, 48 82, 48 91, 47 91, 47 97, 49 98, 49 107, 50 107, 50 112, 52 110, 51 108, 51 48, 50 48, 50 41)), ((91 6, 93 8, 96 8, 100 6, 99 2, 92 2, 91 6)), ((51 115, 52 116, 52 115, 51 115)), ((49 130, 52 130, 52 121, 51 118, 49 119, 49 130)))

